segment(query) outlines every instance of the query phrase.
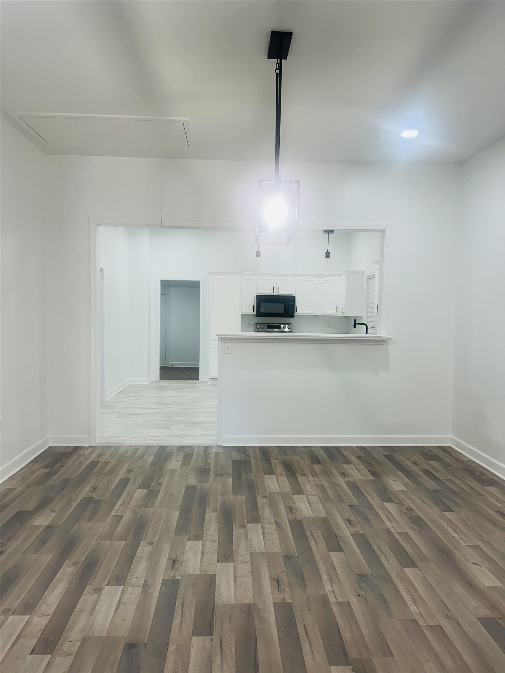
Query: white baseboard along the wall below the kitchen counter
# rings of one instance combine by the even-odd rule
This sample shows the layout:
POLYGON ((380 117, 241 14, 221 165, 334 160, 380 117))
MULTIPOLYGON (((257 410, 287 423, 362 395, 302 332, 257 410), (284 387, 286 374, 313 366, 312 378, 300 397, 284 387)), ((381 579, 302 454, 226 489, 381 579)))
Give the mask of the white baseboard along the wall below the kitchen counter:
POLYGON ((449 446, 451 439, 451 435, 225 435, 222 446, 449 446))

